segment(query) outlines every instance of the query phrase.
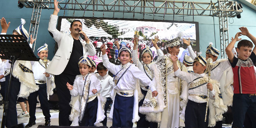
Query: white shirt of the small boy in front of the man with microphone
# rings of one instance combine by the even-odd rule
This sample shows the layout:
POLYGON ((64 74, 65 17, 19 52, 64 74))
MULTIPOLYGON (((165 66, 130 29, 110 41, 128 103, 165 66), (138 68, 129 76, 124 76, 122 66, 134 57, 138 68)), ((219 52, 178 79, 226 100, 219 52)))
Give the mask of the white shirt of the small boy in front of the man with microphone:
MULTIPOLYGON (((92 75, 92 74, 89 74, 89 75, 91 77, 89 96, 94 96, 101 91, 101 84, 100 84, 100 81, 97 79, 97 77, 95 77, 95 75, 92 75), (92 92, 93 89, 97 89, 97 93, 93 94, 92 92)), ((73 89, 70 90, 70 95, 72 95, 72 97, 83 95, 84 82, 85 80, 83 80, 82 75, 78 75, 76 77, 74 81, 73 89)))

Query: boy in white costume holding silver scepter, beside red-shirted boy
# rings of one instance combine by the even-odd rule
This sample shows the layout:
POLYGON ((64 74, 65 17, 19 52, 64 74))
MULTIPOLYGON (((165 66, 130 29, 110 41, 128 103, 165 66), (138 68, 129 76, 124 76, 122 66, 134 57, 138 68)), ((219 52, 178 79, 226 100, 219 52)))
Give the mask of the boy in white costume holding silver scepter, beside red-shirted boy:
MULTIPOLYGON (((171 58, 173 61, 177 60, 175 55, 172 55, 171 58)), ((193 64, 195 73, 182 72, 177 65, 173 65, 175 76, 189 83, 188 86, 183 87, 182 95, 180 96, 183 99, 180 104, 183 109, 180 117, 185 121, 185 127, 207 128, 210 109, 210 107, 207 108, 205 120, 207 98, 214 100, 212 104, 209 103, 209 106, 218 108, 222 112, 227 111, 227 106, 223 105, 223 101, 219 97, 218 81, 208 79, 205 75, 206 59, 198 55, 193 64), (209 90, 209 97, 207 97, 207 89, 209 90)), ((216 114, 216 116, 218 115, 216 114)))

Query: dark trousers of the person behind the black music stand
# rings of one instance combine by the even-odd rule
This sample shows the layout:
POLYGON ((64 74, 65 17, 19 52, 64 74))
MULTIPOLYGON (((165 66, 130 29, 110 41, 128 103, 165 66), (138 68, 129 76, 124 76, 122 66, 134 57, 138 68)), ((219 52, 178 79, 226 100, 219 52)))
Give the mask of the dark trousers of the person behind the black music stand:
MULTIPOLYGON (((6 81, 8 81, 9 78, 10 78, 10 75, 7 75, 6 81)), ((6 89, 5 89, 6 93, 7 93, 7 88, 8 88, 8 82, 6 82, 6 89)), ((5 125, 8 128, 18 124, 16 104, 17 104, 19 89, 20 89, 19 79, 12 77, 10 90, 9 90, 9 100, 8 100, 9 105, 7 109, 6 125, 5 125)))

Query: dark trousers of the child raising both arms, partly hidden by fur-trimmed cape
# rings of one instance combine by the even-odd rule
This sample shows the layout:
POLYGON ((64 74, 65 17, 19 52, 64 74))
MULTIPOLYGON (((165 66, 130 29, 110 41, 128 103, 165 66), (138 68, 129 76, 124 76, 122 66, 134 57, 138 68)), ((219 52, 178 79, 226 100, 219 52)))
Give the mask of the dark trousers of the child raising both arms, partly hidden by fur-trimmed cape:
MULTIPOLYGON (((147 94, 147 91, 141 88, 141 93, 144 95, 144 98, 139 102, 139 106, 142 106, 145 96, 147 94)), ((137 127, 141 127, 141 128, 148 128, 148 127, 157 128, 158 127, 158 123, 148 122, 146 120, 146 115, 139 113, 139 116, 140 116, 140 120, 137 122, 137 127)))

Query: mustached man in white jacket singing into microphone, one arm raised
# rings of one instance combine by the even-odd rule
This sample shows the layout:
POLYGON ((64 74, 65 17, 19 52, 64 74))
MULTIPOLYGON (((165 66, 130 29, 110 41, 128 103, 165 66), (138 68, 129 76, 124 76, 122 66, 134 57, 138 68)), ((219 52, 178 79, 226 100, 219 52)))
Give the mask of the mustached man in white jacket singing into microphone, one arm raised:
POLYGON ((68 82, 73 85, 75 77, 80 74, 79 67, 77 66, 79 58, 86 52, 88 52, 89 56, 94 56, 96 51, 92 42, 81 31, 81 21, 75 20, 71 23, 70 35, 56 29, 59 11, 58 2, 54 0, 54 12, 50 16, 48 31, 58 43, 58 50, 47 67, 46 72, 55 75, 55 84, 59 99, 59 125, 70 126, 72 123, 69 120, 71 95, 66 87, 66 83, 68 82), (82 34, 85 39, 79 39, 79 34, 82 34))

